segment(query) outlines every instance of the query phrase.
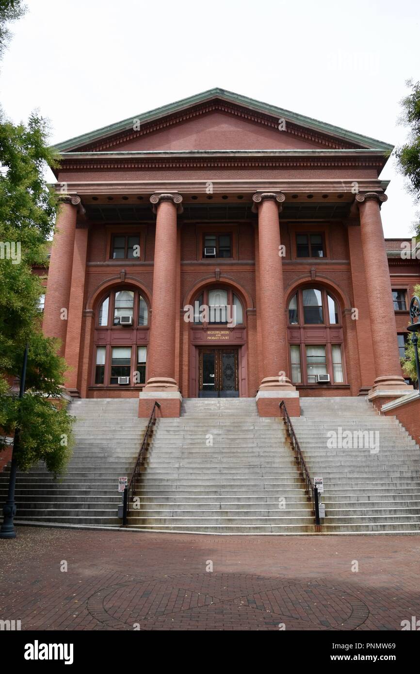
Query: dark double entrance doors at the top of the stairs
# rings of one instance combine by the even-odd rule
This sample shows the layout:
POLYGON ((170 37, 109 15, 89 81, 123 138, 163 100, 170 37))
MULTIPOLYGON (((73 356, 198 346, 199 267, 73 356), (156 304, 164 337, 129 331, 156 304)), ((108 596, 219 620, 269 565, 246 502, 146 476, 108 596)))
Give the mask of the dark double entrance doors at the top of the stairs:
POLYGON ((200 348, 199 398, 239 398, 237 348, 200 348))

